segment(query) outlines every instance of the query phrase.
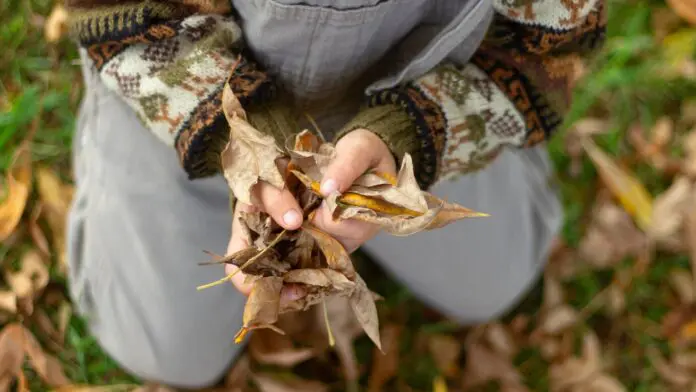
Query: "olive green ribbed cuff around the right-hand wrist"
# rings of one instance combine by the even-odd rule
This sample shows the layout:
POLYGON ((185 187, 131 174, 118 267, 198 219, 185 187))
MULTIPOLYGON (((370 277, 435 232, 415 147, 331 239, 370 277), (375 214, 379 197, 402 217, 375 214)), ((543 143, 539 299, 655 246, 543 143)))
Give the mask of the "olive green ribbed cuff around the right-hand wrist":
POLYGON ((411 154, 418 167, 420 143, 416 136, 415 125, 408 114, 398 105, 380 105, 362 109, 336 135, 338 142, 348 132, 367 129, 386 143, 394 154, 397 166, 406 153, 411 154))

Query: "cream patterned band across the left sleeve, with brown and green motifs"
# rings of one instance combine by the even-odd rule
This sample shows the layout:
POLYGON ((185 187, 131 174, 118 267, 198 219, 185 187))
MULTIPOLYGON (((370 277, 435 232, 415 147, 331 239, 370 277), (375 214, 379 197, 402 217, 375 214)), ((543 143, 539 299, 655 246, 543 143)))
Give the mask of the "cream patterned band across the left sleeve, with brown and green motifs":
POLYGON ((231 49, 240 38, 241 30, 230 17, 190 16, 176 36, 135 44, 110 58, 101 78, 148 129, 173 146, 186 120, 229 77, 237 60, 231 49))

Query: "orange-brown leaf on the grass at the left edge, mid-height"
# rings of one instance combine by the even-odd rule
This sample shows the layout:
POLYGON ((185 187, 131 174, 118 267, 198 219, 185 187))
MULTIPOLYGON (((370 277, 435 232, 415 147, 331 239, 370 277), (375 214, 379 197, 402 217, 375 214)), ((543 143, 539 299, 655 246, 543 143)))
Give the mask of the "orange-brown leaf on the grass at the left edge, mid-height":
POLYGON ((17 149, 5 177, 6 188, 0 195, 0 241, 6 240, 22 217, 31 189, 31 151, 24 143, 17 149))

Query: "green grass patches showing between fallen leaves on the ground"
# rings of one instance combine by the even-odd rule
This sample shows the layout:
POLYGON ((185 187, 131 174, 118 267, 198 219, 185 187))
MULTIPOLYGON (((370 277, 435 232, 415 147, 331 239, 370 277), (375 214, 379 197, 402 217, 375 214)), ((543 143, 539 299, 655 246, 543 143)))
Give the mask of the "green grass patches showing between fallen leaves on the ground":
MULTIPOLYGON (((77 53, 67 40, 47 44, 41 29, 53 2, 48 0, 5 0, 0 3, 0 170, 9 166, 17 145, 30 130, 36 130, 33 156, 36 161, 57 167, 69 175, 70 143, 75 127, 75 113, 82 94, 77 53)), ((659 117, 673 116, 677 120, 677 135, 694 126, 680 121, 680 110, 685 102, 696 102, 696 84, 683 79, 665 79, 661 71, 674 53, 694 57, 696 37, 694 29, 678 26, 681 41, 675 39, 665 46, 654 38, 652 20, 656 10, 664 8, 660 1, 610 1, 609 38, 606 48, 592 64, 592 72, 578 87, 574 106, 567 124, 585 117, 596 116, 609 121, 611 132, 598 137, 600 146, 615 156, 630 153, 626 130, 640 123, 649 128, 659 117), (693 34, 693 35, 690 35, 693 34), (686 42, 686 43, 685 43, 686 42)), ((693 117, 693 116, 692 116, 693 117)), ((568 175, 570 159, 564 150, 563 134, 550 143, 549 149, 558 171, 557 183, 566 210, 563 236, 569 244, 579 243, 587 221, 589 207, 594 202, 597 174, 584 161, 577 177, 568 175)), ((678 149, 678 147, 676 147, 678 149)), ((647 165, 634 167, 638 177, 652 194, 663 191, 669 181, 647 165)), ((0 245, 3 263, 11 262, 17 252, 0 245)), ((629 268, 631 260, 622 268, 629 268)), ((643 322, 659 324, 673 294, 667 289, 667 276, 672 268, 688 268, 684 256, 658 255, 644 276, 637 277, 627 294, 627 314, 640 315, 636 322, 610 320, 601 310, 588 319, 588 326, 603 337, 611 336, 609 343, 616 347, 618 359, 614 363, 617 375, 631 391, 656 391, 664 388, 656 372, 645 357, 648 347, 668 349, 664 340, 649 336, 643 322), (618 332, 617 323, 620 323, 618 332), (615 334, 615 335, 612 335, 615 334), (641 369, 641 371, 636 371, 641 369)), ((374 275, 376 274, 376 275, 374 275)), ((581 308, 611 282, 615 271, 587 272, 566 283, 571 293, 570 303, 581 308)), ((414 349, 421 333, 458 333, 452 323, 431 315, 405 288, 381 278, 368 281, 377 292, 389 293, 380 304, 385 318, 405 325, 401 350, 414 349)), ((537 296, 518 311, 534 311, 537 296), (531 310, 530 310, 531 309, 531 310)), ((369 366, 372 346, 367 339, 356 343, 361 363, 369 366)), ((105 355, 96 341, 89 336, 84 322, 73 317, 67 331, 66 348, 59 353, 68 376, 75 383, 118 384, 134 382, 105 355)), ((525 349, 516 358, 532 390, 548 388, 548 363, 536 349, 525 349)), ((427 355, 404 356, 398 378, 414 390, 429 390, 437 369, 427 355)), ((365 381, 365 380, 363 380, 365 381)), ((390 384, 391 385, 391 384, 390 384)), ((488 390, 488 389, 487 389, 488 390)))

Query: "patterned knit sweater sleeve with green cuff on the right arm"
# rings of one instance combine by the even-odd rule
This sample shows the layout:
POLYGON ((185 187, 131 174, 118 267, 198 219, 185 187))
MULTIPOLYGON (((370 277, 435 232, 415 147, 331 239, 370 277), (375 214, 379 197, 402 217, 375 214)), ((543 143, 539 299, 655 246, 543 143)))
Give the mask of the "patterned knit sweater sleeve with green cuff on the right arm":
POLYGON ((444 62, 369 96, 341 134, 367 128, 397 160, 409 152, 423 188, 485 167, 505 146, 548 139, 569 108, 575 64, 604 41, 604 0, 495 0, 494 8, 467 64, 444 62))

